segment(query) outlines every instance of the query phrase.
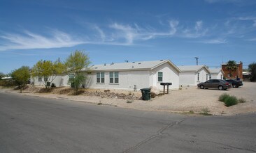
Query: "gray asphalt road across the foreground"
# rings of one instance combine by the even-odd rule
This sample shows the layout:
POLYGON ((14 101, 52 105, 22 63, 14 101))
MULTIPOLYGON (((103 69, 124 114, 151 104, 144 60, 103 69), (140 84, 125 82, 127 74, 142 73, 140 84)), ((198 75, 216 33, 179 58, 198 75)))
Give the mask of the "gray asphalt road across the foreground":
POLYGON ((256 152, 256 114, 195 117, 0 92, 0 152, 256 152))

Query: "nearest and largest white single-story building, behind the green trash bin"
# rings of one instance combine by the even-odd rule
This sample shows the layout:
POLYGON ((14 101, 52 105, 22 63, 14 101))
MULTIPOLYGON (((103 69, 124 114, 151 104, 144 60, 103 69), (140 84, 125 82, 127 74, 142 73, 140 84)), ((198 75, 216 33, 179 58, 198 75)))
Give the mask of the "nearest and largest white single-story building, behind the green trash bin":
POLYGON ((169 60, 93 65, 87 72, 86 88, 139 90, 171 82, 178 89, 180 70, 169 60))

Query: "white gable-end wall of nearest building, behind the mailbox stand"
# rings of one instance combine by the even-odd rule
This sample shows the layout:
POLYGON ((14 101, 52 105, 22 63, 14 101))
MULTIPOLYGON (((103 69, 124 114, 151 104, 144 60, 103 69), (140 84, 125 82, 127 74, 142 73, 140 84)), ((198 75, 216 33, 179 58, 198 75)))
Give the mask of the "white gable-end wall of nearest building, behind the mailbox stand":
POLYGON ((169 86, 169 90, 176 90, 179 87, 179 72, 169 65, 169 63, 165 63, 164 65, 160 65, 152 70, 150 73, 150 86, 157 86, 160 90, 164 90, 164 86, 161 86, 158 81, 158 72, 163 72, 163 81, 162 82, 171 82, 172 85, 169 86))

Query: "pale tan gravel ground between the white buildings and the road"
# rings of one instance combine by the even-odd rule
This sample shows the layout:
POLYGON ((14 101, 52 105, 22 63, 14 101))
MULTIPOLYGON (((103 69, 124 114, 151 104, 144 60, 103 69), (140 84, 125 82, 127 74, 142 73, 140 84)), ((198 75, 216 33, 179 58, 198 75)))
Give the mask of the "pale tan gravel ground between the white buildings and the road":
MULTIPOLYGON (((17 92, 17 90, 8 90, 8 92, 17 92)), ((115 92, 118 91, 115 90, 115 92)), ((134 94, 141 95, 141 92, 135 92, 134 94)), ((102 98, 85 95, 72 96, 31 92, 25 92, 23 95, 49 97, 56 99, 71 99, 79 102, 107 104, 112 106, 119 106, 122 108, 134 108, 144 111, 168 111, 177 113, 201 113, 204 111, 209 111, 209 113, 214 115, 236 115, 239 113, 256 112, 256 83, 250 82, 244 82, 243 86, 239 88, 231 88, 229 90, 201 90, 197 87, 188 87, 183 88, 182 90, 171 91, 168 95, 155 97, 150 101, 118 99, 115 97, 102 98), (222 93, 234 95, 238 98, 243 97, 247 102, 226 107, 223 102, 218 101, 218 97, 222 95, 222 93)))

